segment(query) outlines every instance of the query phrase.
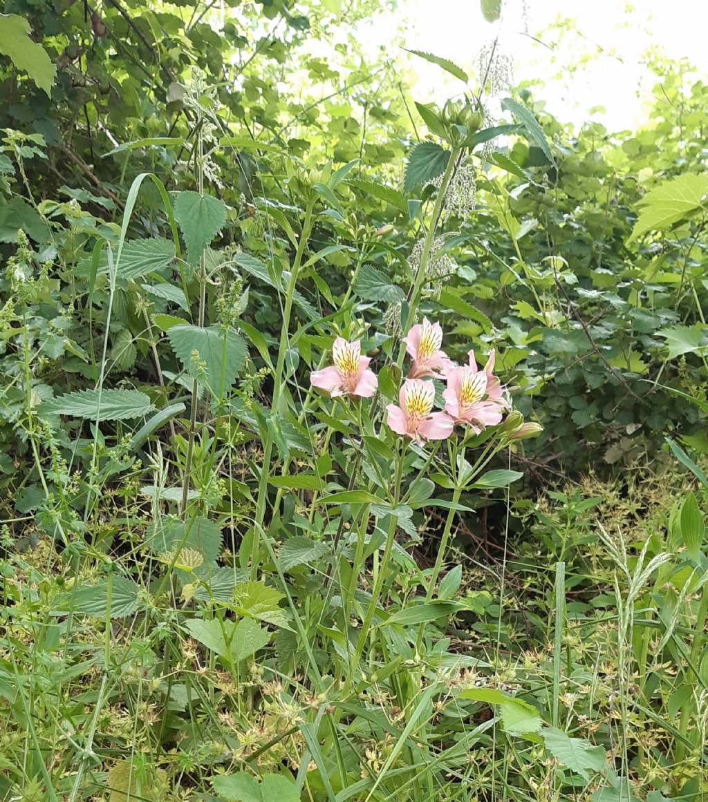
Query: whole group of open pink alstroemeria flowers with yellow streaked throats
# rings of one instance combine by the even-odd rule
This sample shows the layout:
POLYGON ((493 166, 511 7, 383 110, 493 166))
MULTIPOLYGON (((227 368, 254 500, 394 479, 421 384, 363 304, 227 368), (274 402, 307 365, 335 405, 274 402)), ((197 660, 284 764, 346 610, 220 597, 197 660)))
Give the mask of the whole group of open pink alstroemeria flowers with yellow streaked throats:
MULTIPOLYGON (((469 352, 466 365, 456 365, 442 350, 442 328, 423 318, 403 338, 411 358, 408 378, 398 394, 398 403, 386 407, 389 428, 416 443, 450 437, 455 426, 466 426, 479 434, 488 426, 502 422, 510 406, 494 375, 494 351, 480 369, 469 352), (430 379, 446 382, 442 393, 445 409, 433 411, 435 385, 430 379), (425 380, 427 379, 427 380, 425 380)), ((361 356, 361 343, 338 337, 332 348, 333 365, 310 375, 313 387, 332 397, 349 395, 369 398, 376 392, 376 375, 369 370, 370 359, 361 356)))

